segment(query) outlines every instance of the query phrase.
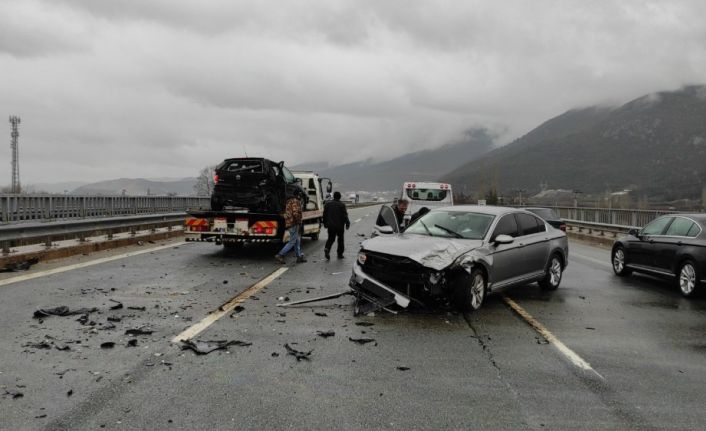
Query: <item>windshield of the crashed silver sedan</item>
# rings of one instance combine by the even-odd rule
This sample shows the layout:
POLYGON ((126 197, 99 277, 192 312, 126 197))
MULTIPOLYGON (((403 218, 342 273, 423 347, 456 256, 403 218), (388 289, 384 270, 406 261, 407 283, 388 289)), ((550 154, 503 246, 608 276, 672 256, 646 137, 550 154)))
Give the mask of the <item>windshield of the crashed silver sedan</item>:
POLYGON ((444 238, 483 239, 495 216, 465 211, 431 211, 405 233, 444 238))

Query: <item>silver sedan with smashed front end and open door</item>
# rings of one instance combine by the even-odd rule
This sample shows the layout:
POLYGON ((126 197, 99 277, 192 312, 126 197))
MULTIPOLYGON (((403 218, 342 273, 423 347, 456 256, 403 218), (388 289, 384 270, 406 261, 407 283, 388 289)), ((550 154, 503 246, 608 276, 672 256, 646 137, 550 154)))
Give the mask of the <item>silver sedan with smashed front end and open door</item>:
POLYGON ((538 282, 555 290, 568 264, 566 234, 518 208, 434 209, 400 232, 383 206, 375 230, 353 264, 356 313, 430 301, 474 311, 508 287, 538 282))

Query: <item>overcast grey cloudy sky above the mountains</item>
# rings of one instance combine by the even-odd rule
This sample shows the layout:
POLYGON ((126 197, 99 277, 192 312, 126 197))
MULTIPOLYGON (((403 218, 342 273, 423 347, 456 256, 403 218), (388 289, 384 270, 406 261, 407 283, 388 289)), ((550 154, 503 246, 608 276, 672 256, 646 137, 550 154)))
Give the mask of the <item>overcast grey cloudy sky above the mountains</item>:
POLYGON ((383 160, 706 83, 706 2, 0 0, 24 184, 383 160))

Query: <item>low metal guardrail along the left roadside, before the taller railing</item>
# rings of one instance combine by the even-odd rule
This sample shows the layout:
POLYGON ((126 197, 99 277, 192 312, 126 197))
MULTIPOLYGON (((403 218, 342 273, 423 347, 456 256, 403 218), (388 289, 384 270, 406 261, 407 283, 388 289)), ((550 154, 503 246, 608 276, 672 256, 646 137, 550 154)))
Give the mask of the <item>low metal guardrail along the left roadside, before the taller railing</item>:
POLYGON ((122 232, 135 233, 138 230, 154 230, 161 227, 184 223, 185 213, 123 216, 96 218, 87 220, 69 220, 55 223, 29 222, 13 223, 0 226, 0 249, 3 254, 10 252, 10 247, 45 244, 51 247, 53 241, 66 239, 85 240, 89 236, 112 235, 122 232))

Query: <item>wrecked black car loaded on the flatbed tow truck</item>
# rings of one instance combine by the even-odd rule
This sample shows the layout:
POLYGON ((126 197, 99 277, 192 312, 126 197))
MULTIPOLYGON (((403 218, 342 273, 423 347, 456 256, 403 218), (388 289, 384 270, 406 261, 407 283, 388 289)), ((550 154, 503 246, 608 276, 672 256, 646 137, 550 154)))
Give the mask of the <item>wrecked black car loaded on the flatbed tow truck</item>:
POLYGON ((282 213, 286 198, 306 198, 297 179, 284 166, 263 158, 226 159, 216 166, 211 209, 247 208, 252 212, 282 213))

